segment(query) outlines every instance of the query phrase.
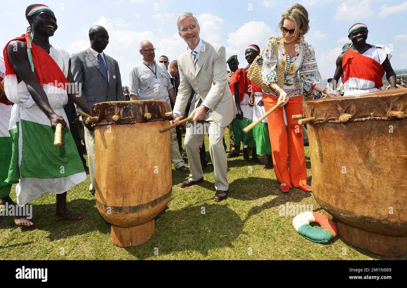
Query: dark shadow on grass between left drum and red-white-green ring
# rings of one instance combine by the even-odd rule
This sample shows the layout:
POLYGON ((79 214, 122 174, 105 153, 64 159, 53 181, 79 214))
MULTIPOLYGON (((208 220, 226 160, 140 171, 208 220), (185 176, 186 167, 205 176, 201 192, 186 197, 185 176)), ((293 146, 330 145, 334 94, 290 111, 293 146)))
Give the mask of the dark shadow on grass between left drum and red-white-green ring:
MULTIPOLYGON (((213 185, 213 184, 212 184, 213 185)), ((186 258, 193 251, 207 256, 209 250, 233 247, 232 242, 243 231, 244 221, 226 205, 188 206, 176 211, 163 211, 155 219, 155 233, 151 240, 125 248, 129 253, 145 259, 153 256, 184 252, 186 258)))

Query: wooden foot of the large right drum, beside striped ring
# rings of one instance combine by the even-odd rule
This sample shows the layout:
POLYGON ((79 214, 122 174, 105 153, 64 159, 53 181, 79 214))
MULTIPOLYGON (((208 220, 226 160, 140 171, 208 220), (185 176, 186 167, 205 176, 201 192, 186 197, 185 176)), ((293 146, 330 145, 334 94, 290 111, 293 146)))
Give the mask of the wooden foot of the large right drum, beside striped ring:
POLYGON ((338 233, 346 242, 387 257, 404 255, 407 252, 407 237, 381 235, 359 228, 337 223, 338 233))

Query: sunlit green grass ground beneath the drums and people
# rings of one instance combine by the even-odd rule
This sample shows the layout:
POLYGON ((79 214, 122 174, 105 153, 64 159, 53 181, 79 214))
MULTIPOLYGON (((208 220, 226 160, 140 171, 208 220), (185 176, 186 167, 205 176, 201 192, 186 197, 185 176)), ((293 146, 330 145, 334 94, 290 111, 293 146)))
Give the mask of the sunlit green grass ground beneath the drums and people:
MULTIPOLYGON (((228 144, 228 135, 225 136, 228 144)), ((308 147, 305 151, 311 184, 308 147)), ((206 159, 210 160, 209 152, 206 159)), ((265 157, 261 159, 266 161, 265 157)), ((155 220, 155 234, 144 244, 130 248, 117 247, 110 241, 110 225, 100 216, 94 196, 88 192, 88 177, 68 192, 68 207, 84 214, 80 221, 56 222, 55 195, 50 194, 30 203, 34 205, 33 227, 17 227, 11 216, 2 217, 0 259, 407 260, 407 254, 397 258, 372 254, 340 237, 327 244, 307 240, 295 231, 294 216, 279 215, 279 206, 287 202, 313 205, 313 211, 331 218, 312 194, 299 189, 282 193, 274 170, 263 170, 254 162, 244 161, 243 157, 231 159, 228 166, 229 198, 220 203, 212 200, 211 164, 204 171, 202 185, 185 189, 180 188, 179 183, 186 175, 173 170, 172 199, 155 220)), ((15 192, 11 197, 15 199, 15 192)))

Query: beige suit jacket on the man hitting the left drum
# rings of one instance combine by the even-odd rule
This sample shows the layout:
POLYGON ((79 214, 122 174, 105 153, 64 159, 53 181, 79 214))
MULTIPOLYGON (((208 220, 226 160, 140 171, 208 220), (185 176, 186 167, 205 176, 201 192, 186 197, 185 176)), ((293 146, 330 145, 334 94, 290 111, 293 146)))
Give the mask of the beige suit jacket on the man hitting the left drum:
POLYGON ((204 120, 213 119, 220 127, 227 127, 237 114, 237 109, 226 80, 225 47, 202 42, 196 69, 189 50, 178 58, 180 84, 173 110, 185 113, 188 99, 194 90, 195 108, 202 99, 202 104, 211 109, 204 120))

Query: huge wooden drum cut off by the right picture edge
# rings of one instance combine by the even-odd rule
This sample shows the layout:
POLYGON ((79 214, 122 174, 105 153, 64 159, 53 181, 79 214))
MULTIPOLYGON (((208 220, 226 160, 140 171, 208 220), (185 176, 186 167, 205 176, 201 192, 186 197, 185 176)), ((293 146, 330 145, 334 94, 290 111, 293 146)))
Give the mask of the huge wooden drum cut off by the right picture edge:
POLYGON ((303 102, 319 205, 339 235, 385 256, 407 251, 407 89, 303 102))

